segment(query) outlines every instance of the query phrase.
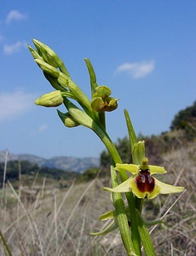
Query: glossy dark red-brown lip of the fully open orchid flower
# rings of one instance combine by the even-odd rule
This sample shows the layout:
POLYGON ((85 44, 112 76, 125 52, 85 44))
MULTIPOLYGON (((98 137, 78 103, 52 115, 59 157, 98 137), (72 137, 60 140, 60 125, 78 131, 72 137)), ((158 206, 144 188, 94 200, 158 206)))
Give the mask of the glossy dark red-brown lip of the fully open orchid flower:
POLYGON ((136 177, 137 188, 141 192, 153 192, 154 189, 154 178, 150 175, 148 170, 141 171, 136 177))

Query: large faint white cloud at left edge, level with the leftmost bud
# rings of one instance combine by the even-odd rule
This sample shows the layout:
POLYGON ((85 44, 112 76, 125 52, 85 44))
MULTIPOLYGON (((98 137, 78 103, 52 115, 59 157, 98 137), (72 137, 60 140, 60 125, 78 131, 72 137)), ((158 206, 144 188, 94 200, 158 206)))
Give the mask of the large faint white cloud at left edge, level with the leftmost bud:
POLYGON ((35 95, 23 91, 0 94, 0 121, 15 119, 34 106, 35 95))

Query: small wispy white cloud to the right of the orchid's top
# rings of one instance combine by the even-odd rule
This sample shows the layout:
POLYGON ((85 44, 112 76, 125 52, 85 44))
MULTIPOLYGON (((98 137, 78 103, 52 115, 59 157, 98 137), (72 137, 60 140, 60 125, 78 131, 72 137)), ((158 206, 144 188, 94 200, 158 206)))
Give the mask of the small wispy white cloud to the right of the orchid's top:
POLYGON ((141 62, 127 62, 117 68, 117 73, 126 73, 133 79, 140 79, 152 73, 155 67, 153 60, 141 62))

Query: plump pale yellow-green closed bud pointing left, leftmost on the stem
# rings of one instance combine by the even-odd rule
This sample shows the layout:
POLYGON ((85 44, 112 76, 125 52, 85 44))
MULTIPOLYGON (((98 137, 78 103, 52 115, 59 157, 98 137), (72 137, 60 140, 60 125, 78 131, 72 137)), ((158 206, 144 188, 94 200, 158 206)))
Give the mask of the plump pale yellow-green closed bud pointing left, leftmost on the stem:
POLYGON ((43 96, 37 98, 36 105, 43 107, 58 107, 63 103, 63 96, 61 90, 54 90, 49 93, 43 94, 43 96))

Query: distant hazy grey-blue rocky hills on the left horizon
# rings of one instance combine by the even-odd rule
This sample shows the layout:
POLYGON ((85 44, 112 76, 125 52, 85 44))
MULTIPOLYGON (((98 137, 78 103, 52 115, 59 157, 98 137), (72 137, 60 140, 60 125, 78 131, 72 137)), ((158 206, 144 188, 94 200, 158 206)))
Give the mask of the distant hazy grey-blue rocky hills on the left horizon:
MULTIPOLYGON (((5 150, 0 150, 0 162, 5 161, 5 150)), ((82 173, 89 167, 99 167, 100 160, 94 157, 69 157, 69 156, 57 156, 50 159, 44 159, 33 154, 8 154, 8 161, 10 160, 28 160, 31 163, 35 163, 40 167, 49 167, 61 169, 68 172, 82 173)))

